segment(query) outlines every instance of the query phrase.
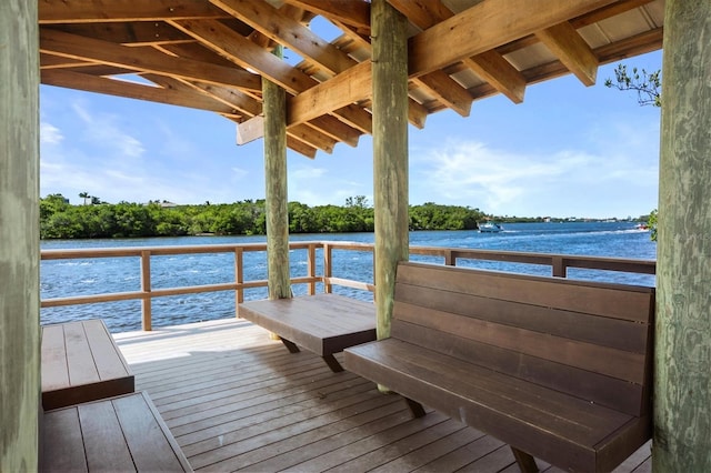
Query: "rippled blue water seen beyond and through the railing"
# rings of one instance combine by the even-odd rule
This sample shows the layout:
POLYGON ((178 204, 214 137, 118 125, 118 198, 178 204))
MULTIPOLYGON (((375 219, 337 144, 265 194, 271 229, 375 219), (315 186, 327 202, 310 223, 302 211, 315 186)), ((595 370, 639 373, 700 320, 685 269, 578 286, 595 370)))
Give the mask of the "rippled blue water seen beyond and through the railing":
MULTIPOLYGON (((373 242, 372 233, 292 235, 292 241, 357 241, 373 242)), ((130 240, 60 240, 43 241, 44 249, 160 246, 263 242, 264 236, 183 236, 166 239, 130 240)), ((472 248, 540 253, 584 254, 633 259, 655 259, 657 245, 649 232, 640 232, 629 222, 575 222, 575 223, 520 223, 507 224, 501 233, 475 231, 412 232, 411 245, 472 248)), ((291 273, 307 274, 306 251, 290 254, 291 273)), ((334 251, 333 275, 372 282, 372 255, 369 252, 334 251)), ((412 260, 433 261, 413 255, 412 260)), ((503 271, 550 274, 550 268, 499 262, 468 262, 467 265, 503 271)), ((317 273, 322 273, 322 254, 317 252, 317 273)), ((569 270, 569 278, 594 279, 610 282, 654 285, 651 275, 615 272, 569 270)), ((244 254, 244 280, 267 279, 267 260, 263 252, 244 254)), ((153 256, 151 259, 153 288, 214 284, 234 281, 234 258, 226 254, 190 254, 153 256)), ((102 258, 93 260, 43 261, 40 268, 42 299, 69 295, 101 294, 140 290, 138 258, 102 258)), ((294 294, 304 294, 306 285, 293 286, 294 294)), ((318 291, 323 291, 318 288, 318 291)), ((371 300, 369 293, 346 288, 334 292, 371 300)), ((264 299, 266 289, 248 290, 247 300, 264 299)), ((234 295, 231 291, 191 295, 156 298, 152 302, 153 326, 234 316, 234 295)), ((140 301, 87 304, 67 308, 42 309, 41 322, 54 323, 68 320, 102 318, 113 332, 139 330, 140 301)))

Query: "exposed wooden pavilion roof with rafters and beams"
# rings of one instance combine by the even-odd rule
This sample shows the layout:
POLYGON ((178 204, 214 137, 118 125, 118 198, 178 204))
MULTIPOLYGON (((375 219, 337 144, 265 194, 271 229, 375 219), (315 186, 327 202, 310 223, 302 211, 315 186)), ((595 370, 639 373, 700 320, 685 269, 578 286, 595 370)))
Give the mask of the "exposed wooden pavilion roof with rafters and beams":
MULTIPOLYGON (((261 76, 288 92, 292 150, 313 158, 372 131, 368 1, 38 1, 44 84, 212 111, 246 143, 262 135, 261 76), (332 41, 310 28, 322 20, 332 41)), ((662 47, 664 0, 389 3, 410 21, 418 128, 499 93, 520 103, 528 84, 568 73, 590 85, 599 64, 662 47)))

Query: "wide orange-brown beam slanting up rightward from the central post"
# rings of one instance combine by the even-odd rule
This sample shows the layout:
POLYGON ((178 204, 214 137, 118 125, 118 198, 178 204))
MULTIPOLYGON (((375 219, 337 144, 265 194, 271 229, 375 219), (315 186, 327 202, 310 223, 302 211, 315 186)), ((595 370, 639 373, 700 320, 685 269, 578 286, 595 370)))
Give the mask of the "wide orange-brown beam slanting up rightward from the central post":
POLYGON ((484 0, 410 39, 410 77, 481 54, 614 0, 484 0))

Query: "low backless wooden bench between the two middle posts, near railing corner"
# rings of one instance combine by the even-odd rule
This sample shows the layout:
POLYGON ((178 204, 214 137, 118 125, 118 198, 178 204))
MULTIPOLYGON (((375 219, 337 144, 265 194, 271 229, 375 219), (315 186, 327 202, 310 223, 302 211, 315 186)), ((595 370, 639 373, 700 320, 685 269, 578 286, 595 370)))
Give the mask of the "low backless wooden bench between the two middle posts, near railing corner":
POLYGON ((323 358, 331 371, 343 371, 333 353, 375 340, 375 306, 338 294, 244 302, 239 316, 279 335, 287 349, 299 346, 323 358))

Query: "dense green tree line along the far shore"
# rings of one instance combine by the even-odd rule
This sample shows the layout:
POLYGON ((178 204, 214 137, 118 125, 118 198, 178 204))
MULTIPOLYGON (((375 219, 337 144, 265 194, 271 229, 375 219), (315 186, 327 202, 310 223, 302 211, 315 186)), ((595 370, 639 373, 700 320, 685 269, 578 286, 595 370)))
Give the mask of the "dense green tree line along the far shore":
MULTIPOLYGON (((266 234, 263 200, 198 205, 167 205, 101 202, 84 198, 72 205, 61 194, 40 199, 42 239, 98 239, 137 236, 182 236, 199 234, 266 234)), ((410 207, 410 230, 473 230, 487 219, 479 209, 427 202, 410 207)), ((344 205, 309 207, 289 202, 290 233, 372 232, 373 208, 363 195, 348 198, 344 205)))

